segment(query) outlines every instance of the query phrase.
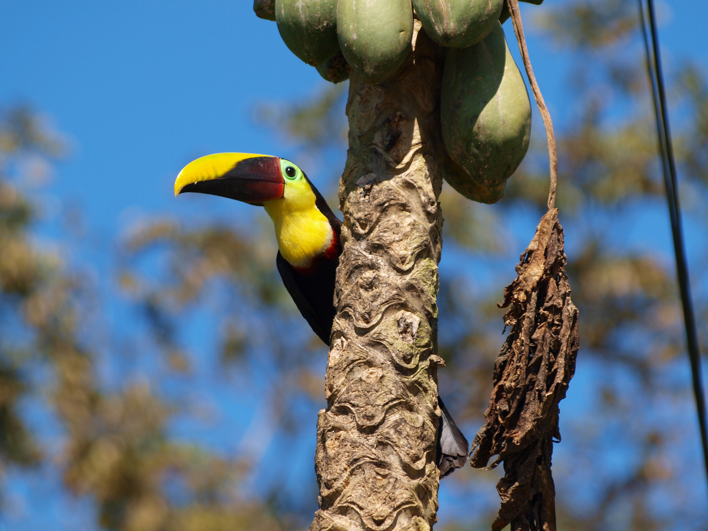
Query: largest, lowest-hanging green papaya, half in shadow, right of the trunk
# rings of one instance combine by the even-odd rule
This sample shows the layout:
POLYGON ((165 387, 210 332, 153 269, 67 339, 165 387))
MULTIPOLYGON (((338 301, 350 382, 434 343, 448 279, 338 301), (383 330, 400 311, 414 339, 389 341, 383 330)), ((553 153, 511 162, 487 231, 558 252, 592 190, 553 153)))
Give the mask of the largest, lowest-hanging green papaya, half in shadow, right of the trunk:
POLYGON ((447 154, 464 170, 449 172, 448 183, 469 199, 498 201, 531 134, 526 85, 500 23, 476 45, 447 49, 440 122, 447 154))

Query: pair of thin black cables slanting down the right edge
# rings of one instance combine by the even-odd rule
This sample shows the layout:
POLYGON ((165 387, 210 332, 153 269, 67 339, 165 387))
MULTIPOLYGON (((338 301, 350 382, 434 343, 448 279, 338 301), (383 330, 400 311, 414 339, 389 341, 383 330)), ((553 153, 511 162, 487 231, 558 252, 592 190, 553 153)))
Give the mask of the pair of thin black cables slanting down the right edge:
POLYGON ((673 143, 668 123, 668 105, 666 103, 666 89, 664 87, 663 72, 661 69, 661 54, 659 52, 658 34, 656 31, 656 13, 653 0, 646 0, 649 6, 649 29, 651 30, 651 43, 653 54, 649 50, 649 38, 646 34, 646 21, 644 19, 644 5, 639 0, 639 18, 641 31, 644 36, 644 50, 646 51, 646 66, 649 70, 651 93, 653 96, 654 112, 656 113, 656 130, 663 167, 664 185, 666 186, 666 200, 671 220, 673 234, 673 249, 676 256, 676 274, 683 304, 683 319, 686 327, 686 345, 688 358, 691 362, 693 379, 693 394, 696 399, 698 425, 700 426, 701 442, 703 447, 703 460, 708 479, 708 433, 706 426, 706 402, 703 393, 703 380, 701 370, 700 348, 698 346, 698 331, 693 312, 691 292, 688 279, 688 266, 686 251, 683 244, 683 226, 681 222, 681 208, 678 203, 678 185, 676 181, 676 163, 673 155, 673 143), (652 64, 653 55, 653 64, 652 64))

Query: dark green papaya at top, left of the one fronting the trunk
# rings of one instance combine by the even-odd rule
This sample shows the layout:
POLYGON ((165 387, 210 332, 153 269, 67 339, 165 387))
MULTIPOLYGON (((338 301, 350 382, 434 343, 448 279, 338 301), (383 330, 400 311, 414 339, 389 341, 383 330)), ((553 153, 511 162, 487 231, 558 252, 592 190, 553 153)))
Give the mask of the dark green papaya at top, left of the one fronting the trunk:
POLYGON ((313 67, 339 51, 337 0, 275 0, 275 21, 290 51, 313 67))

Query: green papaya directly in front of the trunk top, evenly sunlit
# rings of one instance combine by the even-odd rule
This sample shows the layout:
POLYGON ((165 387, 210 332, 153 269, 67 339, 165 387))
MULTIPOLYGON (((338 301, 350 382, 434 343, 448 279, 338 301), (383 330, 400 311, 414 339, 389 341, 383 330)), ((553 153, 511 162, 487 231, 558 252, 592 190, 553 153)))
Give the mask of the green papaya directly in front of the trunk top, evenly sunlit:
POLYGON ((337 33, 350 66, 368 83, 380 83, 411 51, 411 0, 339 0, 337 33))

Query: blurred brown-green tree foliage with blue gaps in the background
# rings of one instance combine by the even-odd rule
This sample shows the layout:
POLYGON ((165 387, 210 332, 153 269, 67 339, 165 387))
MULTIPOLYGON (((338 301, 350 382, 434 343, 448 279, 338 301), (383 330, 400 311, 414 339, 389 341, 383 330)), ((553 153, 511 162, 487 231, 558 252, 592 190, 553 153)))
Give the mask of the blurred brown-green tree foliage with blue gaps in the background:
MULTIPOLYGON (((578 65, 569 72, 571 105, 555 110, 569 116, 556 119, 557 201, 582 337, 554 452, 559 528, 705 529, 707 492, 636 6, 576 0, 540 11, 537 30, 571 50, 578 65)), ((673 67, 669 82, 705 346, 708 85, 691 62, 673 67)), ((295 144, 308 173, 331 177, 324 190, 331 205, 346 149, 344 96, 333 86, 254 115, 295 144)), ((503 341, 494 303, 545 210, 539 125, 497 205, 447 187, 440 200, 447 361, 440 389, 467 435, 481 425, 503 341)), ((50 198, 28 183, 63 156, 65 144, 30 108, 1 110, 0 528, 21 521, 12 482, 53 470, 60 488, 83 501, 88 529, 304 529, 316 508, 312 448, 326 350, 282 288, 260 209, 245 220, 155 215, 122 234, 110 296, 134 326, 117 329, 118 310, 66 243, 68 234, 80 235, 74 218, 55 239, 38 232, 50 198), (224 389, 238 389, 236 397, 224 389), (224 442, 234 433, 241 434, 236 452, 224 442)), ((442 528, 488 528, 498 476, 467 467, 443 481, 442 528)))

